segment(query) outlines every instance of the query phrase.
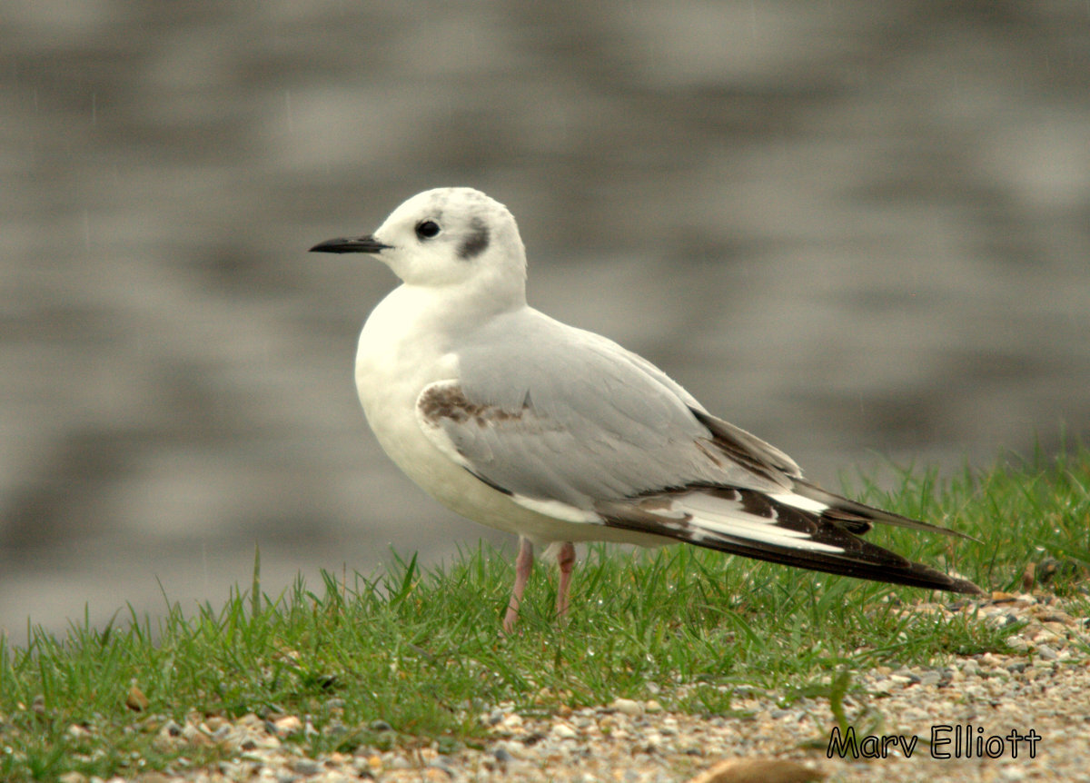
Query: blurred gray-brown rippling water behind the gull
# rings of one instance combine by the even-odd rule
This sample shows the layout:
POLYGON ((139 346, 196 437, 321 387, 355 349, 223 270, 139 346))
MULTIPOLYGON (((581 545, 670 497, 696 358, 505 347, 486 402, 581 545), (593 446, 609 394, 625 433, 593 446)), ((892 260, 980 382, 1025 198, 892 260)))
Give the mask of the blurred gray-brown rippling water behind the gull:
MULTIPOLYGON (((821 483, 1090 421, 1090 5, 8 2, 0 631, 482 537, 380 453, 307 254, 507 204, 540 309, 821 483)), ((498 611, 498 607, 497 607, 498 611)), ((123 610, 123 616, 128 610, 123 610)))

